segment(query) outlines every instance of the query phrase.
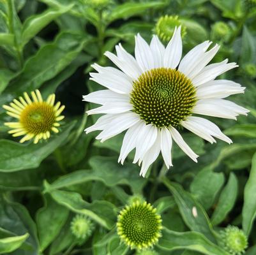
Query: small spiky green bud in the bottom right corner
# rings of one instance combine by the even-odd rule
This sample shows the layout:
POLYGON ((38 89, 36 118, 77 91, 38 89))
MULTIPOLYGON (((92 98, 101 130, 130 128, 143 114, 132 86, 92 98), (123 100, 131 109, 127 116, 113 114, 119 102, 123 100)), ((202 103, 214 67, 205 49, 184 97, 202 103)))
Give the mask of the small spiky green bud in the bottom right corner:
POLYGON ((231 255, 241 255, 248 247, 245 233, 236 226, 227 226, 225 230, 220 232, 220 236, 220 245, 231 255))

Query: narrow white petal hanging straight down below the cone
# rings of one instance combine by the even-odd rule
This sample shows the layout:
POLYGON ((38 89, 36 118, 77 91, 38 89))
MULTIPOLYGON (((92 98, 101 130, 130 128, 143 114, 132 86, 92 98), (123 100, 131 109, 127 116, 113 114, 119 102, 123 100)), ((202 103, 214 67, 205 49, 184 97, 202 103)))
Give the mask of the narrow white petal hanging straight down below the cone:
POLYGON ((167 128, 161 130, 161 151, 167 168, 172 166, 172 136, 167 128))

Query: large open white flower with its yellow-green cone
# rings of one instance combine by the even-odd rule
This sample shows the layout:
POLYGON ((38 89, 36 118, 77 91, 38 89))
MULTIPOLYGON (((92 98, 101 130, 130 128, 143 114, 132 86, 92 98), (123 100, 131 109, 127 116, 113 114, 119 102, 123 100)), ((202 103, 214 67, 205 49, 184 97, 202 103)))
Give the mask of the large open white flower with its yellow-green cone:
POLYGON ((207 51, 210 45, 211 42, 204 41, 181 59, 181 27, 178 27, 166 48, 158 36, 153 36, 148 45, 138 34, 135 58, 121 44, 116 46, 117 56, 106 52, 121 71, 93 64, 98 73, 91 73, 91 80, 107 89, 84 96, 84 101, 102 105, 87 114, 105 115, 86 132, 101 130, 96 139, 104 142, 128 129, 118 161, 123 164, 128 154, 136 149, 133 163, 142 164, 140 175, 143 177, 160 152, 167 168, 172 166, 172 141, 197 162, 198 155, 184 142, 179 127, 211 143, 216 142, 215 138, 231 143, 213 122, 193 116, 236 119, 239 114, 248 112, 224 99, 243 93, 245 87, 231 80, 215 80, 237 64, 225 59, 207 65, 219 49, 215 45, 207 51))

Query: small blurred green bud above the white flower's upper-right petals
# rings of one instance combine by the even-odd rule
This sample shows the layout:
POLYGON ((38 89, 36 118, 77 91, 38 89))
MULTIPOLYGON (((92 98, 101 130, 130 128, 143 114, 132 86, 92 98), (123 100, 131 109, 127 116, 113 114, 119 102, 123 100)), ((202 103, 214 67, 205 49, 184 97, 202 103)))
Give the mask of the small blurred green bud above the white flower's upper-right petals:
POLYGON ((228 41, 231 35, 231 29, 228 24, 222 21, 215 22, 211 27, 211 36, 213 40, 228 41))

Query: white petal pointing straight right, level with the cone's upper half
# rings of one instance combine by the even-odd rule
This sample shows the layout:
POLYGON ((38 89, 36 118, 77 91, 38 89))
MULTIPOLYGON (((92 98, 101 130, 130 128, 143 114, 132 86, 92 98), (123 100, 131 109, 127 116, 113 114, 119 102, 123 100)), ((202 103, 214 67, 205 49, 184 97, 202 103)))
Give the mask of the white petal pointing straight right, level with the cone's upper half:
POLYGON ((244 93, 245 87, 235 87, 230 85, 215 85, 216 80, 207 82, 197 88, 197 98, 227 98, 230 95, 244 93))

